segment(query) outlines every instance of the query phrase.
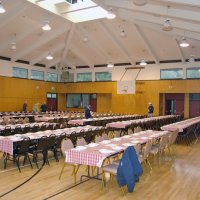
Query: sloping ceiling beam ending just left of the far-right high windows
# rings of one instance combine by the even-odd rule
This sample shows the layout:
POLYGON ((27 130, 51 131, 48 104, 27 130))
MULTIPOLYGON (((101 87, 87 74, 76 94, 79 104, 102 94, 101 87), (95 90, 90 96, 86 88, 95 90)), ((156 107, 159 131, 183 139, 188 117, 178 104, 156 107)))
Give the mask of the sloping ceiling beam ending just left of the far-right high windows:
POLYGON ((141 28, 137 24, 131 23, 131 25, 134 27, 134 30, 136 30, 137 35, 139 36, 139 38, 144 43, 144 45, 145 45, 146 49, 148 50, 148 52, 154 58, 156 64, 159 64, 160 61, 158 59, 158 56, 156 55, 156 52, 154 51, 153 47, 149 43, 149 41, 148 41, 147 37, 145 36, 144 32, 141 30, 141 28))

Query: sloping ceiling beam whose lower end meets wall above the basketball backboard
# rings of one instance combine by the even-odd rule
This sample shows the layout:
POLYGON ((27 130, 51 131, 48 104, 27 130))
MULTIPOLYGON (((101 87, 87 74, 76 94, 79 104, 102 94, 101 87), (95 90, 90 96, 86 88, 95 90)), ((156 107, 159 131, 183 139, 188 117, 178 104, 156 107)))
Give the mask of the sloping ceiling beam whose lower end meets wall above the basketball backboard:
POLYGON ((122 42, 120 42, 117 37, 112 33, 112 31, 105 25, 103 22, 97 22, 98 26, 103 30, 104 33, 113 41, 113 43, 119 48, 119 50, 128 58, 129 62, 132 65, 136 64, 136 61, 133 60, 129 54, 129 52, 126 50, 122 42))

